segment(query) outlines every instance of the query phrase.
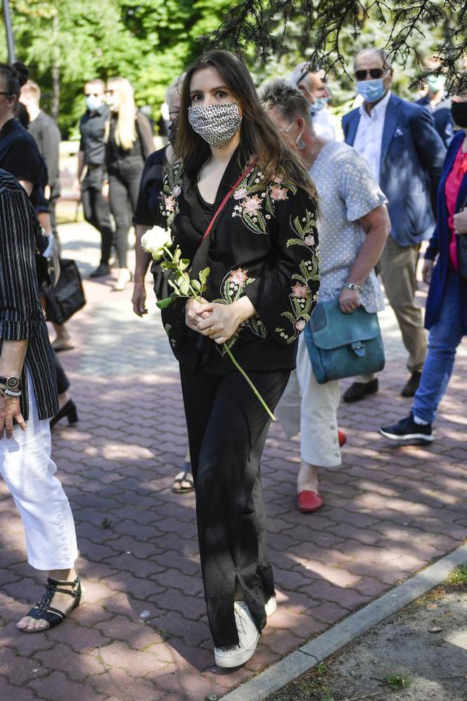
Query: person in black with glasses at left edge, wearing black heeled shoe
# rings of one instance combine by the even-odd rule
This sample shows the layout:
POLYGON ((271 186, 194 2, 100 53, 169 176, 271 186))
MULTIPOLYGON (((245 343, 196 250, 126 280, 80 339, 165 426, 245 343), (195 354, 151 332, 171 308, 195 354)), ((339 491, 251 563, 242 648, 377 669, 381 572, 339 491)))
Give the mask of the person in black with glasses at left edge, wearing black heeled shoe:
MULTIPOLYGON (((11 66, 0 64, 0 168, 19 180, 30 196, 37 215, 48 215, 49 206, 44 197, 44 185, 47 182, 46 165, 34 138, 17 118, 21 86, 27 81, 27 75, 28 71, 23 63, 11 66)), ((38 241, 38 244, 46 249, 44 239, 38 241)), ((77 408, 68 396, 70 381, 56 353, 53 353, 53 358, 56 363, 60 411, 51 419, 51 426, 63 417, 67 417, 70 423, 75 423, 77 408)))

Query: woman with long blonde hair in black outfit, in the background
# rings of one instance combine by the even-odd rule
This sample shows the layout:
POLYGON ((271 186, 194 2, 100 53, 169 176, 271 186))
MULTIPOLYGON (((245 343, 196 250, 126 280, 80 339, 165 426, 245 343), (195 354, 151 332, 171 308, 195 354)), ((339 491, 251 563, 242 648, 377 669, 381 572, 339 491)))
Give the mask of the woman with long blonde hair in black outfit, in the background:
POLYGON ((133 87, 126 78, 110 78, 110 109, 105 165, 108 170, 110 209, 115 220, 115 245, 120 274, 113 289, 123 290, 132 279, 127 263, 128 232, 136 208, 144 162, 154 151, 151 122, 136 111, 133 87))

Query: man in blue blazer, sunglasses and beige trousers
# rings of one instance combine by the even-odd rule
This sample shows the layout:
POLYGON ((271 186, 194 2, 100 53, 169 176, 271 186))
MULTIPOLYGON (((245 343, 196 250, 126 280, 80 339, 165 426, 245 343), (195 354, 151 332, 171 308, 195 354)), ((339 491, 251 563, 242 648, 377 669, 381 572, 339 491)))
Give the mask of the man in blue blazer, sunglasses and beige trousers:
MULTIPOLYGON (((390 91, 392 68, 385 51, 360 51, 354 72, 364 103, 343 118, 345 142, 366 158, 389 201, 391 234, 378 268, 409 353, 411 376, 402 389, 402 396, 409 397, 416 392, 426 356, 426 332, 415 297, 418 250, 435 225, 446 149, 428 110, 390 91)), ((376 377, 358 377, 344 401, 376 391, 376 377)))

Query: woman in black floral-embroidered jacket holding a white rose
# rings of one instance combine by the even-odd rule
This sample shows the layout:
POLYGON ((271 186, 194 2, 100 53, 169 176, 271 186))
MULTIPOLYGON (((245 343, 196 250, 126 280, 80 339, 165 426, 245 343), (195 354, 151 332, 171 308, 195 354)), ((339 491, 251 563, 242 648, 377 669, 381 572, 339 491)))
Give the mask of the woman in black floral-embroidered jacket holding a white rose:
MULTIPOLYGON (((158 223, 191 277, 206 266, 210 275, 203 303, 177 298, 162 322, 180 365, 215 660, 236 667, 276 607, 260 480, 270 419, 222 344, 274 410, 319 287, 316 190, 233 53, 212 51, 188 70, 178 128, 181 160, 165 173, 158 223)), ((153 274, 156 296, 169 296, 158 263, 153 274)))

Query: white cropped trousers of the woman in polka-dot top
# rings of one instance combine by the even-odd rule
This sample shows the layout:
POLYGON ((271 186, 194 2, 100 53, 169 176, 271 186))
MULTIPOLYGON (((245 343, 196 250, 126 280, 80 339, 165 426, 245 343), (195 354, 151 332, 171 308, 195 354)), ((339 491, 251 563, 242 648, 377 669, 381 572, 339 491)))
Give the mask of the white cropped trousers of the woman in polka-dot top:
POLYGON ((298 339, 297 370, 290 374, 276 416, 288 438, 300 434, 302 460, 316 467, 342 464, 338 440, 339 381, 318 384, 303 334, 298 339))

